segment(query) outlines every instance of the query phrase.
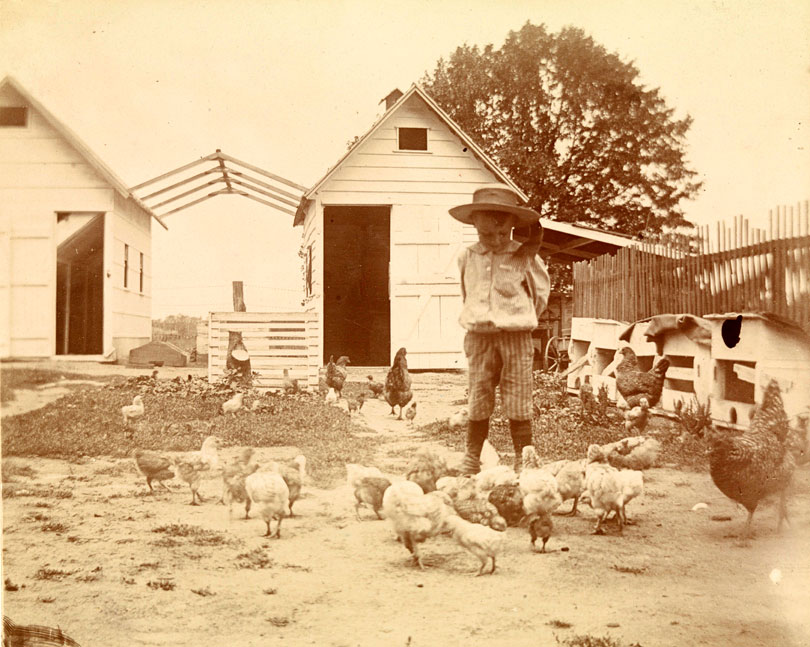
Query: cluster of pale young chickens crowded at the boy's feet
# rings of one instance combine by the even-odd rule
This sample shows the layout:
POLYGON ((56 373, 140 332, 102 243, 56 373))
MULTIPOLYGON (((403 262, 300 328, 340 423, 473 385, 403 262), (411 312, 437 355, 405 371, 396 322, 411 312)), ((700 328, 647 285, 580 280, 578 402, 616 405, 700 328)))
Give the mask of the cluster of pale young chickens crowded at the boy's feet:
POLYGON ((567 500, 573 500, 567 513, 571 515, 577 514, 579 500, 590 503, 598 515, 594 533, 603 532, 602 524, 611 512, 621 532, 627 523, 626 506, 643 493, 644 480, 640 471, 618 469, 609 459, 642 447, 651 448, 643 438, 592 445, 585 459, 541 465, 534 447, 528 446, 523 450, 523 467, 516 473, 499 464, 497 452, 487 441, 482 469, 474 476, 458 476, 427 447, 416 452, 405 478, 393 483, 376 467, 350 464, 346 471, 357 518, 364 505, 377 518, 384 515, 415 565, 424 568, 421 543, 448 533, 479 559, 477 575, 483 575, 495 571, 507 527, 527 527, 532 549, 541 539, 540 552, 545 552, 554 528, 551 515, 567 500))

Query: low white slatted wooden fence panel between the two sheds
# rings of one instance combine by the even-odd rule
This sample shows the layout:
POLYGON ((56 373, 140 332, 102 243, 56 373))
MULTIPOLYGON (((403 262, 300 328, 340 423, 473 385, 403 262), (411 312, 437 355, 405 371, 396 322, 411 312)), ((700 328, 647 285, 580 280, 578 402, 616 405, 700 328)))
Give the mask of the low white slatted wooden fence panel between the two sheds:
POLYGON ((310 390, 318 388, 318 329, 316 315, 305 312, 212 312, 208 322, 208 381, 225 374, 228 333, 242 333, 250 353, 254 386, 281 388, 284 369, 310 390))

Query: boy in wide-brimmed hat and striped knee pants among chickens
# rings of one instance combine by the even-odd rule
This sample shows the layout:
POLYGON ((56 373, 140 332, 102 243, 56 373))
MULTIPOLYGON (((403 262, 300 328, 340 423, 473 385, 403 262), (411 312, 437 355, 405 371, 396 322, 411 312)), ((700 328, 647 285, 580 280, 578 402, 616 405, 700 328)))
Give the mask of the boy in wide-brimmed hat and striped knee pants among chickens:
POLYGON ((540 214, 520 206, 517 192, 498 184, 478 189, 472 203, 453 207, 450 215, 478 232, 478 243, 458 260, 464 301, 459 323, 467 330, 464 353, 470 374, 461 472, 476 474, 481 469, 481 448, 489 435, 498 384, 519 471, 523 448, 532 443, 531 332, 548 303, 550 287, 548 272, 537 256, 540 214), (522 245, 512 240, 512 229, 526 226, 529 239, 522 245))

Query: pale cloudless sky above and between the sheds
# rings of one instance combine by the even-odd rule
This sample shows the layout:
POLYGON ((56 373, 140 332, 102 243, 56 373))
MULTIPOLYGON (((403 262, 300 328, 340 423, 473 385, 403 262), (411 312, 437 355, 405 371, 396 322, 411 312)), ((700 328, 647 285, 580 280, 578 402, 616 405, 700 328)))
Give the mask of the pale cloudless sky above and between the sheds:
MULTIPOLYGON (((222 149, 304 186, 441 57, 527 21, 573 25, 632 62, 675 116, 704 186, 687 219, 810 199, 806 0, 0 0, 16 78, 128 186, 222 149)), ((153 227, 153 318, 297 308, 301 228, 237 196, 153 227)))

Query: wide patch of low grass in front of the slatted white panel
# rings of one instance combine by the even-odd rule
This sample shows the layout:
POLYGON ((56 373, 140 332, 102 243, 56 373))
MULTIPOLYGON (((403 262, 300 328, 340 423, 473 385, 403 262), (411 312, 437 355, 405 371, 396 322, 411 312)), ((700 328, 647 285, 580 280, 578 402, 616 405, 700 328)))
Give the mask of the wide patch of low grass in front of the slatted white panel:
MULTIPOLYGON (((296 446, 307 457, 310 476, 319 483, 343 480, 346 463, 369 462, 379 439, 357 435, 349 414, 315 393, 252 393, 263 411, 218 415, 233 391, 195 380, 193 388, 172 380, 131 378, 123 383, 70 393, 41 409, 3 419, 6 456, 126 457, 136 446, 153 451, 194 451, 209 435, 226 445, 296 446), (178 389, 184 391, 180 392, 178 389), (141 395, 146 413, 135 433, 121 420, 121 407, 141 395)), ((359 388, 359 387, 358 387, 359 388)), ((97 473, 117 475, 114 467, 97 473)))

